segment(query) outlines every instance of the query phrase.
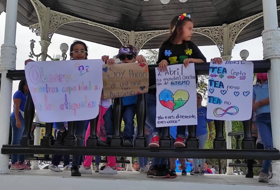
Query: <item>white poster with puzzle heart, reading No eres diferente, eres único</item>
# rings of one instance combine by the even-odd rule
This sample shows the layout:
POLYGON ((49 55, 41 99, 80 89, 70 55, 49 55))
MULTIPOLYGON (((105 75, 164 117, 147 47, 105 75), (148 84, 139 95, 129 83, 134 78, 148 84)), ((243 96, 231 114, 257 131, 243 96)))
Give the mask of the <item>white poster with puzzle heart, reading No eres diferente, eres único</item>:
POLYGON ((165 72, 156 70, 156 127, 196 125, 196 75, 194 64, 167 66, 165 72))

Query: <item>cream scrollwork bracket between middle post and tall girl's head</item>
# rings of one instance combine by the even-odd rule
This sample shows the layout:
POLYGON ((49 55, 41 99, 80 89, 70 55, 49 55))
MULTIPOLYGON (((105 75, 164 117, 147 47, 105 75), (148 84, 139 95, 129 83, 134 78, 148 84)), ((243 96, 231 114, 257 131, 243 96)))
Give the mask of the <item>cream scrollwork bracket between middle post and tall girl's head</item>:
POLYGON ((147 31, 147 32, 135 32, 135 48, 137 51, 151 38, 158 36, 160 34, 169 33, 170 30, 157 30, 157 31, 147 31))

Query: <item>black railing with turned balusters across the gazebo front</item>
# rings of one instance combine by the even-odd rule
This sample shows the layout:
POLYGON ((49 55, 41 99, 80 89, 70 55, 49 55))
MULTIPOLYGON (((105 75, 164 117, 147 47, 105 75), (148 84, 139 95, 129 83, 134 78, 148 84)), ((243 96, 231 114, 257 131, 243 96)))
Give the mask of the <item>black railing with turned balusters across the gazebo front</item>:
MULTIPOLYGON (((254 63, 254 73, 265 73, 270 69, 269 60, 252 61, 254 63)), ((157 65, 149 65, 149 86, 155 85, 155 68, 157 65)), ((209 74, 209 63, 195 64, 196 75, 209 74)), ((9 71, 6 77, 13 80, 25 78, 24 70, 9 71)), ((197 78, 197 77, 196 77, 197 78)), ((90 120, 91 131, 88 137, 87 147, 75 147, 75 122, 68 122, 68 135, 65 146, 52 146, 54 137, 52 136, 52 123, 46 123, 46 132, 41 139, 41 146, 32 146, 31 124, 35 112, 31 95, 28 94, 24 112, 25 129, 22 136, 21 145, 3 145, 2 153, 25 153, 25 154, 80 154, 80 155, 107 155, 107 156, 139 156, 139 157, 199 157, 199 158, 220 158, 220 159, 265 159, 279 160, 279 150, 252 150, 252 120, 243 121, 244 137, 242 139, 242 149, 226 149, 226 140, 223 136, 224 121, 215 120, 214 149, 198 149, 196 138, 196 126, 189 126, 189 134, 186 148, 171 148, 171 138, 169 127, 164 127, 161 137, 161 148, 146 148, 144 126, 146 120, 146 99, 145 94, 138 95, 136 106, 136 119, 138 133, 135 139, 134 148, 121 147, 122 138, 120 134, 121 121, 123 116, 122 99, 115 98, 113 104, 114 113, 114 136, 111 147, 97 146, 97 121, 98 116, 90 120)))

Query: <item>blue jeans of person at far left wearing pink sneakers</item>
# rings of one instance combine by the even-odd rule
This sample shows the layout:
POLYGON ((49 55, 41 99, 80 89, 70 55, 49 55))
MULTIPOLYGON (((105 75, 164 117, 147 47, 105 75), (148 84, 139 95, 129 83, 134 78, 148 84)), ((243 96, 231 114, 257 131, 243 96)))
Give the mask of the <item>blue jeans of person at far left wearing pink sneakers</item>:
MULTIPOLYGON (((19 141, 21 139, 21 136, 23 134, 24 130, 24 118, 19 117, 19 120, 21 122, 21 128, 17 128, 15 125, 15 117, 11 117, 11 126, 13 131, 13 139, 12 139, 12 145, 18 145, 19 141)), ((25 155, 24 154, 12 154, 12 164, 19 161, 19 164, 24 163, 25 155)))

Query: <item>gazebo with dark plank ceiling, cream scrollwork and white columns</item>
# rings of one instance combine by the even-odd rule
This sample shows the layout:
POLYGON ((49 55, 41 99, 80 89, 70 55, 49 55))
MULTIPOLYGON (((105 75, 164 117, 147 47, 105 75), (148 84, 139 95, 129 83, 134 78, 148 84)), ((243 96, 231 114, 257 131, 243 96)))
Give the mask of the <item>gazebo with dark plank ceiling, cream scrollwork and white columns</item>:
MULTIPOLYGON (((263 36, 264 59, 271 60, 269 92, 274 147, 280 149, 279 113, 280 71, 279 28, 277 11, 280 0, 0 0, 6 5, 5 41, 1 46, 2 71, 0 96, 0 145, 8 142, 12 81, 8 70, 15 70, 15 24, 18 21, 41 36, 41 60, 47 58, 54 33, 67 35, 112 47, 123 44, 137 50, 158 48, 169 34, 168 24, 175 16, 186 12, 194 21, 192 41, 197 46, 217 45, 223 60, 231 59, 235 43, 263 36), (165 2, 165 1, 163 1, 165 2), (168 2, 168 1, 166 1, 168 2)), ((34 43, 34 42, 31 42, 34 43)), ((32 45, 32 44, 31 44, 32 45)), ((230 129, 227 129, 230 131, 230 129)), ((0 154, 0 174, 6 174, 8 157, 0 154)), ((273 161, 274 184, 280 184, 280 162, 273 161), (277 180, 276 180, 277 179, 277 180)))

